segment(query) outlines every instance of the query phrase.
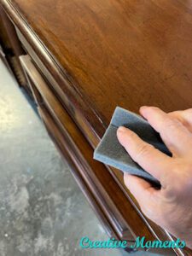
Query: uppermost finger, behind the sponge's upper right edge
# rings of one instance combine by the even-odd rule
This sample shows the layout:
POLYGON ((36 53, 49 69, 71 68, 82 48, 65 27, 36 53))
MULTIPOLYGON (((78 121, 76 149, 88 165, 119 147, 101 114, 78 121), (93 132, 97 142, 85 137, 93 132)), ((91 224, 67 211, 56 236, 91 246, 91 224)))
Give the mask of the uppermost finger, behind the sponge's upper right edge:
MULTIPOLYGON (((192 134, 177 119, 160 110, 160 108, 143 107, 140 108, 143 117, 160 133, 167 148, 173 156, 189 154, 192 148, 192 134)), ((191 153, 190 153, 191 154, 191 153)))

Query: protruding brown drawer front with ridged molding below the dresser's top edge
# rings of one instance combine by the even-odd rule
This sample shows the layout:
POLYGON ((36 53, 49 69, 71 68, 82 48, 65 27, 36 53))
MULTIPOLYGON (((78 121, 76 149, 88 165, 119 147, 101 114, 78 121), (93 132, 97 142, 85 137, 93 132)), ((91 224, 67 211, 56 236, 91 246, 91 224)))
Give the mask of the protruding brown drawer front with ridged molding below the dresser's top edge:
MULTIPOLYGON (((135 234, 131 225, 136 218, 142 225, 142 219, 134 213, 130 202, 126 200, 124 193, 105 166, 93 160, 93 149, 90 144, 38 72, 30 56, 21 56, 20 61, 31 81, 38 112, 49 134, 54 138, 62 154, 65 154, 73 165, 73 174, 78 182, 80 181, 82 190, 102 219, 108 235, 134 241, 139 234, 135 234)), ((142 233, 146 236, 149 230, 140 229, 140 235, 142 233)))

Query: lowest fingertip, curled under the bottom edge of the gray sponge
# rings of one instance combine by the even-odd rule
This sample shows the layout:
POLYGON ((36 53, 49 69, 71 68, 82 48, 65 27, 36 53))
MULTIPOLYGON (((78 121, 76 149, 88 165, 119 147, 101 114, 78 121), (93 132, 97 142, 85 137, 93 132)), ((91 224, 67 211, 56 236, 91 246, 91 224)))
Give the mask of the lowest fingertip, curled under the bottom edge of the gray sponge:
POLYGON ((142 209, 148 207, 151 202, 151 196, 155 196, 159 192, 159 190, 154 189, 154 187, 143 178, 129 173, 124 174, 124 182, 125 186, 137 199, 137 202, 142 209))

